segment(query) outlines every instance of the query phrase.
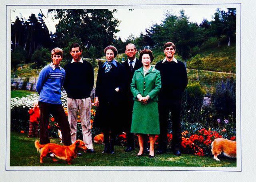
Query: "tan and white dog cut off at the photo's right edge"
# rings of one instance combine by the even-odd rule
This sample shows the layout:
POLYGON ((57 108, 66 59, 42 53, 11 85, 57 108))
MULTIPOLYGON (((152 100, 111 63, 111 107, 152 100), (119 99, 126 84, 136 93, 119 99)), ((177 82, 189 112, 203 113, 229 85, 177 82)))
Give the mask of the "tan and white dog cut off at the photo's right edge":
POLYGON ((213 159, 220 160, 218 155, 222 152, 228 157, 236 158, 236 141, 223 138, 214 139, 212 142, 213 159))

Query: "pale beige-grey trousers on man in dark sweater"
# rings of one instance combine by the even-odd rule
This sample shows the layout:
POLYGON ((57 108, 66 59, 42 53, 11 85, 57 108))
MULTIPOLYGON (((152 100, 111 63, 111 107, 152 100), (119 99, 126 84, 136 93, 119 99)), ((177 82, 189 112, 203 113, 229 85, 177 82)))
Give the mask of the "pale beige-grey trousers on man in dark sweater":
POLYGON ((91 131, 91 99, 72 99, 67 98, 68 104, 68 122, 70 124, 71 141, 76 141, 77 115, 79 110, 80 121, 82 125, 83 141, 88 149, 92 149, 92 131, 91 131))

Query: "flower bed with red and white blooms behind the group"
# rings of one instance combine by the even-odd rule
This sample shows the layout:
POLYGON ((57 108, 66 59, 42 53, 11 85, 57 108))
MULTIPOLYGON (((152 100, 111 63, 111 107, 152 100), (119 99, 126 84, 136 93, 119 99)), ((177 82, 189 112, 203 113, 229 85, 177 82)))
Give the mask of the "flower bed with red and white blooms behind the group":
MULTIPOLYGON (((62 91, 62 106, 66 115, 67 94, 62 91)), ((29 114, 28 110, 32 108, 35 100, 38 99, 38 94, 31 94, 27 97, 22 98, 12 98, 11 99, 11 131, 18 131, 21 133, 28 133, 29 127, 29 114)), ((186 104, 185 104, 186 106, 186 104)), ((94 116, 96 112, 96 106, 94 105, 94 100, 91 103, 91 127, 92 127, 92 137, 99 134, 101 131, 98 128, 93 127, 94 116)), ((198 123, 191 123, 188 120, 188 115, 191 114, 193 110, 188 110, 188 108, 183 108, 182 114, 182 152, 188 154, 194 154, 198 156, 210 155, 211 153, 211 143, 216 138, 226 138, 230 140, 236 140, 236 123, 233 118, 233 113, 229 114, 223 119, 214 118, 214 109, 209 104, 209 106, 204 106, 199 111, 200 118, 198 123), (206 129, 207 128, 207 129, 206 129)), ((113 116, 114 117, 114 116, 113 116)), ((78 114, 78 125, 77 125, 77 138, 82 139, 82 127, 80 123, 80 115, 78 114)), ((169 127, 170 126, 169 120, 169 127)), ((56 120, 50 116, 49 118, 49 137, 58 137, 58 123, 56 120)), ((168 137, 168 149, 172 147, 172 131, 169 130, 167 134, 168 137)), ((156 148, 158 145, 158 135, 156 135, 156 148)), ((135 138, 136 145, 138 146, 138 138, 135 138)), ((126 133, 118 135, 116 140, 116 145, 126 146, 126 133)))

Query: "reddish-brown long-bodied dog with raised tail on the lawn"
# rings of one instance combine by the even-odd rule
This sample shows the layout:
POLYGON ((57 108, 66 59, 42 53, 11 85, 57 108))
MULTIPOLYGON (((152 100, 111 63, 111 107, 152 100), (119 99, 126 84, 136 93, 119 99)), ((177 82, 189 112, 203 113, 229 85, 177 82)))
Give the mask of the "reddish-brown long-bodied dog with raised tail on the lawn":
MULTIPOLYGON (((68 164, 71 164, 72 159, 76 158, 79 149, 82 149, 84 151, 87 150, 87 147, 82 140, 77 140, 69 146, 62 146, 55 143, 40 145, 39 141, 36 140, 35 147, 38 153, 40 153, 40 163, 43 163, 43 159, 47 156, 48 153, 53 153, 54 156, 58 159, 66 160, 68 164)), ((58 161, 53 156, 51 156, 51 159, 54 162, 58 161)))

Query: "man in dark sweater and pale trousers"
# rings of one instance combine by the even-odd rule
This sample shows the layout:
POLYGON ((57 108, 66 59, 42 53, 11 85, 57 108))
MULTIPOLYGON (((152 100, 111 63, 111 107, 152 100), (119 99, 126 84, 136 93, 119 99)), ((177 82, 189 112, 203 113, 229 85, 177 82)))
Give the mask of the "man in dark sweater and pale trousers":
MULTIPOLYGON (((76 129, 78 121, 78 110, 82 125, 83 140, 88 148, 88 153, 95 153, 92 147, 92 132, 90 124, 90 93, 94 85, 94 71, 92 65, 82 60, 82 49, 77 43, 70 46, 70 54, 73 59, 71 63, 65 65, 66 77, 64 88, 68 94, 68 121, 70 123, 70 133, 72 143, 76 141, 76 129)), ((82 155, 82 154, 78 154, 82 155)))

